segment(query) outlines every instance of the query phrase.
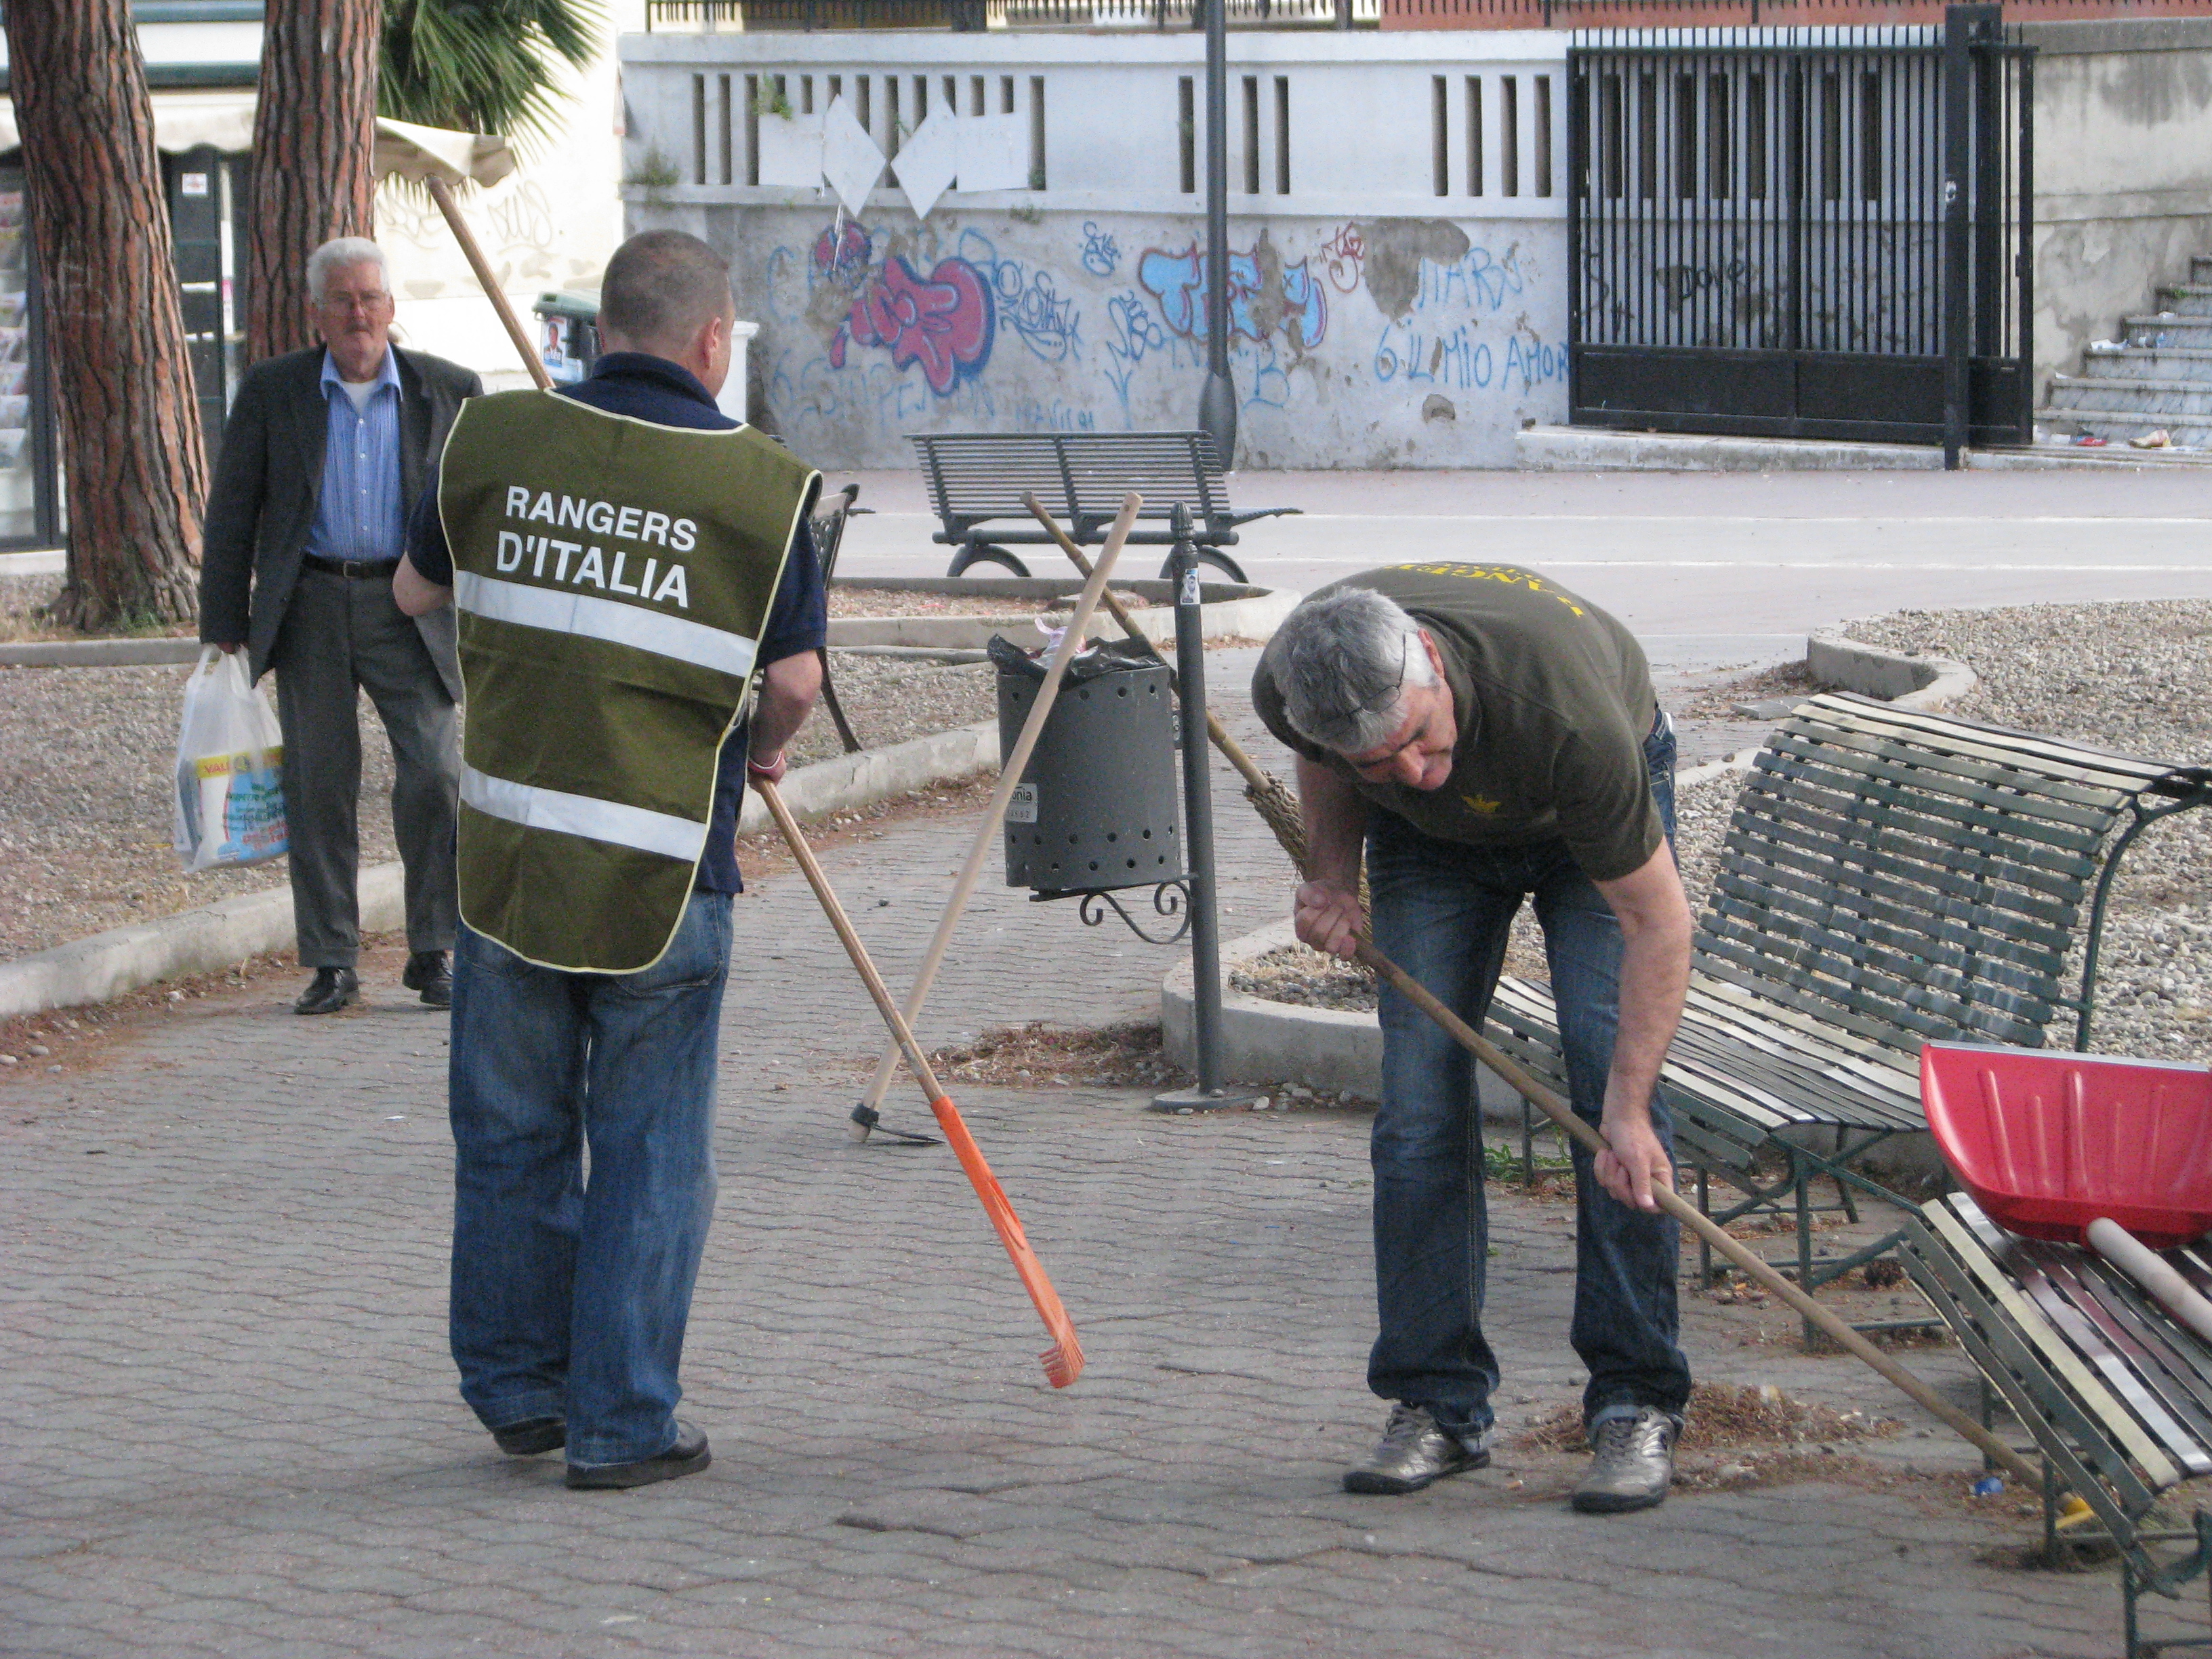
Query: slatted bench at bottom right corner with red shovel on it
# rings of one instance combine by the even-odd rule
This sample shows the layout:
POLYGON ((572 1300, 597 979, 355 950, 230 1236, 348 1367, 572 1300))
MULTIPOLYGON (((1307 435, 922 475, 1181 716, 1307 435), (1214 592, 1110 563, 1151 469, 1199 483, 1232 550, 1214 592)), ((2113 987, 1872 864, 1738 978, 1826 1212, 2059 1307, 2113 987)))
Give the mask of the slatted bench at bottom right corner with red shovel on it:
MULTIPOLYGON (((2212 1557, 2212 1513, 2161 1513, 2172 1486, 2212 1473, 2212 1347, 2093 1250, 2015 1239, 1964 1192, 1922 1206, 1898 1256, 1982 1369, 1984 1420, 2002 1398, 2044 1455, 2046 1562, 2064 1546, 2119 1553, 2128 1659, 2212 1648, 2143 1641, 2137 1619, 2143 1590, 2179 1597, 2212 1557), (2088 1504, 2093 1524, 2059 1520, 2062 1491, 2088 1504)), ((2166 1261, 2212 1292, 2201 1245, 2166 1261)))

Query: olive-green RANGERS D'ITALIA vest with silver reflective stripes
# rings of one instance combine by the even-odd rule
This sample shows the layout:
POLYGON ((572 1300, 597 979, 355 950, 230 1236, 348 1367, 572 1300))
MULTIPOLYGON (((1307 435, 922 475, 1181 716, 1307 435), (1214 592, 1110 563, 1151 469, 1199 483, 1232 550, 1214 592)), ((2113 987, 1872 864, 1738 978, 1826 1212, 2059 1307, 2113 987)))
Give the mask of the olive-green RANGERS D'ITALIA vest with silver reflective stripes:
POLYGON ((577 973, 661 958, 818 489, 752 427, 659 427, 551 392, 462 405, 438 513, 467 686, 469 927, 577 973))

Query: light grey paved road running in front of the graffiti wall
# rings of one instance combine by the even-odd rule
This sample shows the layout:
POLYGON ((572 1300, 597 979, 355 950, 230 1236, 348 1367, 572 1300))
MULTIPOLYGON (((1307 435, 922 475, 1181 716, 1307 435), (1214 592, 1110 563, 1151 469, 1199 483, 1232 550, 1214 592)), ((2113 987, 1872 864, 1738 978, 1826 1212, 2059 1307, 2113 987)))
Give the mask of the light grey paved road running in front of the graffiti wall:
MULTIPOLYGON (((860 473, 847 575, 940 575, 918 473, 860 473)), ((2212 471, 1241 473, 1254 582, 1314 588, 1402 557, 1553 573, 1661 668, 1781 661, 1816 626, 1905 606, 2212 595, 2212 471)), ((1133 555, 1135 557, 1135 555, 1133 555)), ((1046 571, 1037 562, 1035 571, 1046 571)), ((1146 571, 1150 573, 1150 568, 1146 571)))

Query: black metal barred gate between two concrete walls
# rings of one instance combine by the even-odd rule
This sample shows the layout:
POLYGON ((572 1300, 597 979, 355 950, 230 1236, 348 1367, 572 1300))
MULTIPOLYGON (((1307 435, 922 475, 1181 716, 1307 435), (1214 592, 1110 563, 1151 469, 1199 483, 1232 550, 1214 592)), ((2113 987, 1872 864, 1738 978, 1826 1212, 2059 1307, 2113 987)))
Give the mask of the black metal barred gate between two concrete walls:
POLYGON ((2031 440, 2035 58, 1997 7, 1566 62, 1575 425, 2031 440))

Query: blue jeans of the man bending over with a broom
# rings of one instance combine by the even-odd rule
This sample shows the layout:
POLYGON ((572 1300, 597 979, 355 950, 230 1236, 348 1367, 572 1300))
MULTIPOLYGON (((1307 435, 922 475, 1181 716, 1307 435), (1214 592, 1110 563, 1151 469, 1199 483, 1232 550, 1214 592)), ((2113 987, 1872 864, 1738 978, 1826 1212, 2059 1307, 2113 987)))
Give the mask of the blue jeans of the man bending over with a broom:
MULTIPOLYGON (((1652 799, 1674 836, 1674 732, 1644 743, 1652 799)), ((1575 1113, 1595 1124, 1619 1024, 1621 929, 1566 843, 1471 847, 1433 841, 1376 812, 1367 832, 1376 945, 1460 1018, 1480 1026, 1504 964, 1506 931, 1535 900, 1551 960, 1575 1113)), ((1383 1104, 1374 1126, 1376 1301, 1380 1336, 1367 1387, 1427 1407, 1473 1440, 1486 1433, 1498 1356, 1482 1336, 1489 1217, 1473 1060, 1429 1015, 1383 987, 1383 1104)), ((1672 1126, 1652 1102, 1659 1139, 1672 1126)), ((1677 1225, 1613 1199, 1575 1148, 1573 1343, 1590 1371, 1584 1416, 1657 1405, 1681 1411, 1690 1365, 1674 1340, 1677 1225)))

